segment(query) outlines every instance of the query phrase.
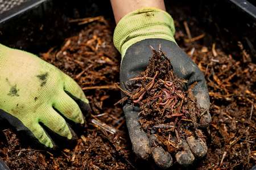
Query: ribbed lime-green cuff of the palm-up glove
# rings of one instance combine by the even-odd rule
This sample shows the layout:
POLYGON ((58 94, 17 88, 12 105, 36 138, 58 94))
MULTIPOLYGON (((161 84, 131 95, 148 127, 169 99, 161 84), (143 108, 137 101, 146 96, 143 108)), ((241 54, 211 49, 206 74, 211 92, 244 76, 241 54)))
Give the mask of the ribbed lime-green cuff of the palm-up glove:
POLYGON ((175 42, 174 33, 174 20, 170 14, 158 8, 141 8, 118 22, 114 31, 114 46, 123 58, 127 48, 138 41, 165 39, 175 42))

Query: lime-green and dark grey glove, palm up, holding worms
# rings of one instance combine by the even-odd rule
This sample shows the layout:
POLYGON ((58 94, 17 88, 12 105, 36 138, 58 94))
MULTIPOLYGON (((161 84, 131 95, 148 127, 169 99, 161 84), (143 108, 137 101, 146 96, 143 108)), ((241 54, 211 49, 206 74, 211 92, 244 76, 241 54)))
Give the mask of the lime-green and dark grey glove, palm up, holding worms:
MULTIPOLYGON (((204 74, 196 64, 177 46, 174 40, 174 21, 171 16, 156 8, 142 8, 124 16, 114 32, 114 45, 122 54, 120 82, 125 90, 127 80, 134 78, 146 69, 152 56, 150 45, 162 51, 170 59, 174 73, 180 78, 187 79, 189 87, 194 82, 196 86, 192 92, 201 108, 207 112, 201 117, 202 127, 208 126, 211 120, 209 109, 209 95, 204 74)), ((127 90, 128 91, 128 90, 127 90)), ((154 137, 148 139, 147 134, 141 129, 138 122, 139 109, 127 101, 123 105, 126 116, 127 128, 133 150, 142 159, 154 158, 155 163, 162 168, 172 165, 170 153, 162 147, 151 148, 154 137)), ((207 153, 207 146, 200 137, 191 136, 181 139, 179 144, 183 150, 177 151, 175 158, 181 165, 192 164, 196 158, 201 158, 207 153)))

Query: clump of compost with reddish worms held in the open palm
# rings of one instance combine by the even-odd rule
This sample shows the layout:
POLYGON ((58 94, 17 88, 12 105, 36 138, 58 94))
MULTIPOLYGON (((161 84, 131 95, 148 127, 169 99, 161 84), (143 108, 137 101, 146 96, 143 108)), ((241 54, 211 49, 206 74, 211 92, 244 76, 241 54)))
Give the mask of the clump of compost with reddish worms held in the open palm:
POLYGON ((168 152, 176 152, 181 139, 191 135, 200 136, 198 129, 200 117, 207 111, 199 108, 192 94, 193 83, 185 90, 187 80, 175 76, 170 59, 159 50, 151 47, 152 57, 146 70, 128 80, 126 97, 120 101, 131 100, 139 106, 139 123, 148 138, 155 136, 151 147, 161 146, 168 152), (130 92, 131 91, 131 92, 130 92), (178 140, 177 140, 178 139, 178 140))

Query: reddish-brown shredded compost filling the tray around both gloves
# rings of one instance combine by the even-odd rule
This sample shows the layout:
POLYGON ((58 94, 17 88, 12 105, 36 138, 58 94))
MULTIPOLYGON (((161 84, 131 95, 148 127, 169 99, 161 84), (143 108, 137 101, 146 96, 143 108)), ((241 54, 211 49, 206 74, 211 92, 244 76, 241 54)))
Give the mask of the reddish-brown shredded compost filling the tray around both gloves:
MULTIPOLYGON (((225 53, 216 42, 203 44, 209 35, 193 18, 188 23, 176 19, 177 44, 205 74, 211 101, 207 156, 191 168, 250 169, 256 160, 255 64, 240 42, 239 50, 225 53)), ((113 27, 102 17, 85 19, 83 24, 63 45, 40 56, 80 84, 93 114, 79 131, 77 145, 59 153, 24 146, 14 131, 1 130, 0 156, 10 169, 138 168, 122 108, 114 105, 121 99, 115 86, 121 58, 113 46, 113 27)), ((175 167, 181 169, 176 163, 175 167)))

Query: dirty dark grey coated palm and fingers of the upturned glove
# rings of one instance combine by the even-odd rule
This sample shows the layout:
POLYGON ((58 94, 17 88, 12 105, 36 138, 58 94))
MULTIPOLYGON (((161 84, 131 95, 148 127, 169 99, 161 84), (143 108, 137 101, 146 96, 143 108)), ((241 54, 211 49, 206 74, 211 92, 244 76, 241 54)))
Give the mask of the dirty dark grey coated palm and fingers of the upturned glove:
MULTIPOLYGON (((134 78, 143 71, 148 60, 151 57, 149 46, 157 49, 159 44, 162 46, 162 51, 170 58, 174 73, 180 78, 188 80, 188 86, 197 82, 192 89, 193 94, 197 99, 197 103, 201 108, 209 109, 209 95, 207 85, 204 80, 204 75, 201 73, 196 64, 181 50, 174 42, 163 39, 146 39, 139 41, 127 49, 121 64, 121 85, 127 80, 134 78)), ((125 86, 122 86, 125 88, 125 86)), ((139 108, 134 108, 131 103, 126 103, 123 107, 125 112, 127 128, 133 150, 135 154, 143 159, 148 159, 151 155, 155 163, 162 168, 168 168, 172 165, 171 155, 164 151, 162 147, 152 147, 155 142, 154 135, 150 138, 141 130, 138 122, 139 108)), ((200 126, 206 127, 210 122, 210 114, 206 112, 200 119, 200 126)), ((196 133, 195 133, 196 134, 196 133)), ((175 137, 174 137, 175 138, 175 137)), ((176 139, 177 140, 177 139, 176 139)), ((179 146, 183 150, 175 154, 175 158, 179 164, 192 164, 195 158, 203 157, 207 152, 207 146, 200 137, 191 136, 187 139, 179 139, 179 146)))

